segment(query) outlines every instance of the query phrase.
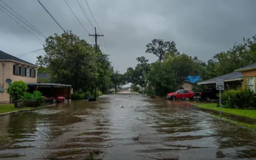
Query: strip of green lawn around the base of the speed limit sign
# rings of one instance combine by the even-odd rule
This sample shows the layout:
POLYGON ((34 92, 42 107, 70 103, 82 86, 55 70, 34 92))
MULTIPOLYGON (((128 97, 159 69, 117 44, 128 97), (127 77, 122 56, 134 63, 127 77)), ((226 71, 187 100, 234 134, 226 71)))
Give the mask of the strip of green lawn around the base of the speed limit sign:
MULTIPOLYGON (((194 105, 197 106, 197 107, 201 107, 201 108, 207 108, 207 109, 212 109, 212 110, 219 111, 219 107, 217 107, 216 103, 194 104, 194 105)), ((225 112, 225 113, 231 113, 231 114, 235 114, 235 115, 240 115, 240 116, 256 119, 256 110, 221 108, 221 111, 225 112)))

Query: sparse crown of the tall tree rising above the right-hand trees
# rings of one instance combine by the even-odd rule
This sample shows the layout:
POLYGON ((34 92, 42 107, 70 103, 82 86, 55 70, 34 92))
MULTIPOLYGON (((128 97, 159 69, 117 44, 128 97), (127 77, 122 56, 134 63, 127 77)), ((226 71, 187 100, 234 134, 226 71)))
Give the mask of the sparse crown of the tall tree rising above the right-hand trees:
POLYGON ((163 40, 154 39, 146 47, 146 53, 155 54, 155 56, 157 56, 159 60, 162 60, 165 54, 168 52, 179 54, 178 50, 176 49, 176 44, 174 41, 164 42, 163 40))

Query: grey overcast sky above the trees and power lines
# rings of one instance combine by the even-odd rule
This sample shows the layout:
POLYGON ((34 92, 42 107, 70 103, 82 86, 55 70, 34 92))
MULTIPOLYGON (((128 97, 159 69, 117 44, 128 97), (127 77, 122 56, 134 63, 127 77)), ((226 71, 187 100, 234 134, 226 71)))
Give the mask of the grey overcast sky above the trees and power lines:
MULTIPOLYGON (((63 30, 38 1, 2 1, 44 35, 62 33, 63 30)), ((93 20, 85 0, 78 1, 82 2, 90 19, 93 20)), ((137 64, 135 58, 138 56, 145 56, 150 62, 157 59, 154 55, 145 53, 146 45, 152 39, 175 41, 180 52, 207 61, 214 54, 232 48, 233 44, 241 42, 243 37, 249 38, 256 34, 255 0, 87 0, 87 2, 104 34, 112 66, 121 73, 124 73, 128 67, 135 67, 137 64)), ((64 0, 41 0, 41 3, 64 29, 71 29, 81 39, 92 43, 88 33, 75 19, 64 0)), ((67 0, 67 3, 84 27, 93 34, 93 27, 82 13, 77 1, 67 0)), ((2 2, 0 5, 7 8, 2 2)), ((0 50, 15 56, 43 47, 41 41, 1 10, 0 20, 0 50)), ((95 25, 94 21, 93 25, 95 25)), ((43 41, 40 35, 29 30, 43 41)), ((101 42, 106 53, 102 38, 101 42)), ((43 54, 44 51, 40 51, 20 58, 36 63, 36 56, 43 54)))

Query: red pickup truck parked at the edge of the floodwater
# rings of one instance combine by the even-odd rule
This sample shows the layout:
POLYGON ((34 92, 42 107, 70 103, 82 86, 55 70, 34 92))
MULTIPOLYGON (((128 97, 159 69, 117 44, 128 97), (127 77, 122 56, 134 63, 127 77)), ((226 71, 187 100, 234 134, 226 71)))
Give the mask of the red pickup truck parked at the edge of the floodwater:
POLYGON ((195 93, 191 92, 189 89, 180 89, 177 90, 174 93, 168 93, 166 95, 166 98, 169 100, 176 100, 176 99, 182 99, 182 98, 188 98, 189 100, 194 100, 195 93))

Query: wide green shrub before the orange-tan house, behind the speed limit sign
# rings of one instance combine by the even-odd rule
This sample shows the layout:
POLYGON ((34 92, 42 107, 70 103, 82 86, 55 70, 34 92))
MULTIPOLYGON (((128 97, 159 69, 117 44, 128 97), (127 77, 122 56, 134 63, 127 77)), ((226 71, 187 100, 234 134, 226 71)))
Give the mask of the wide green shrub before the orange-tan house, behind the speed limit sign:
POLYGON ((255 100, 255 93, 252 90, 241 87, 221 93, 223 108, 250 109, 255 107, 255 100))

